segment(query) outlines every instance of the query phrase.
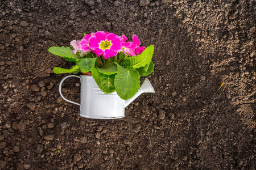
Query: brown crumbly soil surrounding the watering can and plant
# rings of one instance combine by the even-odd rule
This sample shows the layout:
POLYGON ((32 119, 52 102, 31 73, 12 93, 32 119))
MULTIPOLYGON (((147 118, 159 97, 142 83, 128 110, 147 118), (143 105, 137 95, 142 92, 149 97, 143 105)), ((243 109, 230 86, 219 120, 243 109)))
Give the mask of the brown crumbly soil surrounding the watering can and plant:
MULTIPOLYGON (((0 169, 255 169, 255 6, 1 1, 0 169), (155 45, 156 92, 119 120, 82 118, 61 99, 68 74, 52 70, 71 63, 48 52, 101 30, 155 45)), ((79 80, 63 92, 79 102, 79 80)))

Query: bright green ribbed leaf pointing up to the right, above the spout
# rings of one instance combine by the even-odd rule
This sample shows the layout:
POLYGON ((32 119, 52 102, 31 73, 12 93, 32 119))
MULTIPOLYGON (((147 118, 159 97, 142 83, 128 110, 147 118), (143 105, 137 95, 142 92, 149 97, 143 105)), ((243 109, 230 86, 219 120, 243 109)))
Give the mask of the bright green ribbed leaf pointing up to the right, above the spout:
POLYGON ((144 67, 149 64, 154 53, 154 45, 148 46, 144 51, 138 56, 127 57, 125 62, 121 64, 123 67, 133 66, 134 69, 138 69, 139 67, 144 67))

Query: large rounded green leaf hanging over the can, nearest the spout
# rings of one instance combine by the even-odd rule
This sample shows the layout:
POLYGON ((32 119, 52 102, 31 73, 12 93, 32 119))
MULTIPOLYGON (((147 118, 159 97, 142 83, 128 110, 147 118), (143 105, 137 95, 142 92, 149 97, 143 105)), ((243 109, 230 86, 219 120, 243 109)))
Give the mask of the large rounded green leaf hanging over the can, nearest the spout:
POLYGON ((114 86, 117 94, 123 100, 133 97, 140 87, 141 81, 137 70, 133 67, 123 68, 117 64, 117 75, 115 75, 114 86))

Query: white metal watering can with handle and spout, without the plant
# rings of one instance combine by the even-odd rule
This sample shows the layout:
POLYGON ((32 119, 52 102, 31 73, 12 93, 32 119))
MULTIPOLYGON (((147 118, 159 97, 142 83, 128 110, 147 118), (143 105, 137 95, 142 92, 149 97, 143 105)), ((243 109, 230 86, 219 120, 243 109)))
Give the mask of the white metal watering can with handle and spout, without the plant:
POLYGON ((112 119, 125 117, 125 108, 134 99, 136 99, 142 93, 154 93, 150 81, 146 78, 142 83, 138 92, 128 100, 121 99, 117 92, 112 94, 105 94, 98 87, 97 83, 91 75, 68 75, 65 76, 60 82, 59 86, 60 96, 73 104, 80 105, 80 116, 86 118, 98 118, 98 119, 112 119), (81 100, 80 104, 74 101, 66 99, 61 92, 61 85, 65 79, 75 76, 80 78, 81 81, 81 100))

